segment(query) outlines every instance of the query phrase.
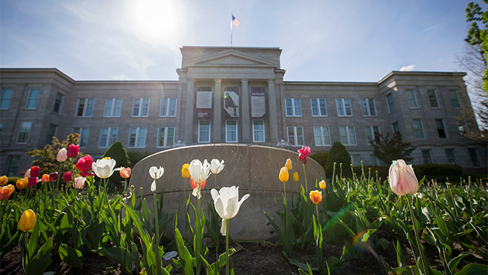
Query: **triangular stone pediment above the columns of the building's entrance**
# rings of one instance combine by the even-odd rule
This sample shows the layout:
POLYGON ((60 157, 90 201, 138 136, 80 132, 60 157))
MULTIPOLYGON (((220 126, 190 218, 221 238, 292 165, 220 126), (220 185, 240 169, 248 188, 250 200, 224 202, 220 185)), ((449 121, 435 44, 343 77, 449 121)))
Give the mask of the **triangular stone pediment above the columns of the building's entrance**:
POLYGON ((190 59, 184 66, 266 66, 277 67, 277 61, 257 57, 238 50, 227 50, 216 54, 208 54, 204 57, 190 59))

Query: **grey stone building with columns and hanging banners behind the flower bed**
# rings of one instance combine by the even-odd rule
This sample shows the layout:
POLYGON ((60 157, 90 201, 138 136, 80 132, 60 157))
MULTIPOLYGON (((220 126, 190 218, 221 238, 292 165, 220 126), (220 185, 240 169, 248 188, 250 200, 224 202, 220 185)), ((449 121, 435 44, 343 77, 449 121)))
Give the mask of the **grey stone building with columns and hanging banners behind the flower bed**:
MULTIPOLYGON (((487 148, 462 137, 473 125, 464 73, 393 71, 378 82, 284 81, 277 47, 182 47, 175 81, 76 81, 55 68, 0 70, 1 174, 18 175, 26 151, 79 133, 93 158, 116 140, 156 152, 206 143, 328 151, 341 142, 359 165, 379 165, 369 140, 402 133, 414 164, 485 168, 487 148)), ((473 121, 475 124, 475 121, 473 121)), ((227 160, 226 160, 227 161, 227 160)), ((230 161, 230 160, 229 160, 230 161)))

